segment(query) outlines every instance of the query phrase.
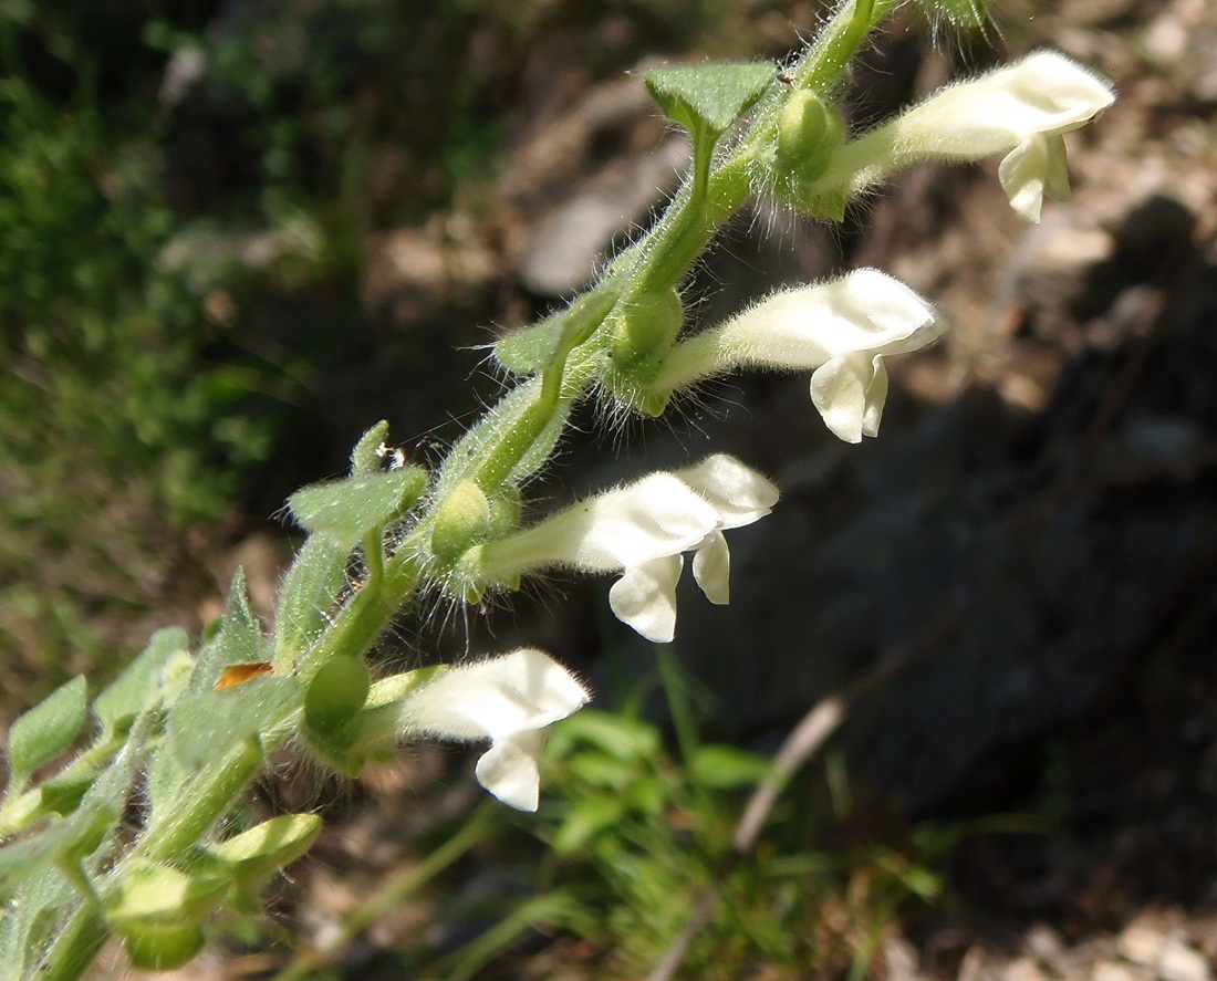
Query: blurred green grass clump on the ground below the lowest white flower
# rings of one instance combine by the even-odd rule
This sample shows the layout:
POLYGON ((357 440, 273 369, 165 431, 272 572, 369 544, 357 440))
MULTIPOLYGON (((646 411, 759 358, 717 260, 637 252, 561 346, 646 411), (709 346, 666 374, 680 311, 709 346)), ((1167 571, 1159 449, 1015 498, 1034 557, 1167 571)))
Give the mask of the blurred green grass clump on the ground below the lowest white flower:
POLYGON ((738 861, 735 828, 770 762, 689 735, 673 756, 660 729, 629 711, 584 710, 555 727, 535 830, 551 850, 543 890, 566 902, 546 925, 588 942, 591 976, 640 977, 717 886, 677 976, 869 976, 910 904, 938 895, 957 831, 835 840, 847 815, 834 812, 823 780, 803 780, 738 861))

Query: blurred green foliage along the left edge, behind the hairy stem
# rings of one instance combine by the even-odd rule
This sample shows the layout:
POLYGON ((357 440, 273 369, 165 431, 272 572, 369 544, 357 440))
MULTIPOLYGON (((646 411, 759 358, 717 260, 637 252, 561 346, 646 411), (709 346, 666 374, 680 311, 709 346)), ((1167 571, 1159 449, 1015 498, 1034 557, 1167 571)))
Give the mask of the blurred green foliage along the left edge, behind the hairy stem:
POLYGON ((97 656, 100 609, 162 593, 174 529, 228 505, 218 460, 265 450, 198 370, 202 299, 156 268, 174 217, 155 152, 106 118, 71 37, 34 40, 5 21, 0 656, 22 695, 97 656))

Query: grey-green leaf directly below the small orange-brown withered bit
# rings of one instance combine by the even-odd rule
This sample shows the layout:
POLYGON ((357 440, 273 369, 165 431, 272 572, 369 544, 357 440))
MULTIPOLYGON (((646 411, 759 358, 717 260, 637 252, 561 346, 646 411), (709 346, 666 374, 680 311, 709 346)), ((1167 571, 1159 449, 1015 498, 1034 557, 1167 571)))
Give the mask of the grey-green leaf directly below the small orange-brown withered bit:
POLYGON ((267 674, 226 691, 198 691, 178 700, 169 716, 169 745, 186 773, 224 756, 241 740, 265 731, 299 703, 298 682, 267 674))

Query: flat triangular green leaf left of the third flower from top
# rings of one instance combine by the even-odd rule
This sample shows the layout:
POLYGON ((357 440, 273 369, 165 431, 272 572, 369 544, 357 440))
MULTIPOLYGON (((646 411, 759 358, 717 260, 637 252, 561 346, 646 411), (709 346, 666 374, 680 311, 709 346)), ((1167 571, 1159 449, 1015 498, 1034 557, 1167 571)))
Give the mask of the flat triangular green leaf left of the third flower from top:
POLYGON ((404 466, 315 483, 292 494, 287 506, 305 531, 323 533, 335 544, 353 549, 365 534, 385 527, 414 504, 430 476, 421 466, 404 466))

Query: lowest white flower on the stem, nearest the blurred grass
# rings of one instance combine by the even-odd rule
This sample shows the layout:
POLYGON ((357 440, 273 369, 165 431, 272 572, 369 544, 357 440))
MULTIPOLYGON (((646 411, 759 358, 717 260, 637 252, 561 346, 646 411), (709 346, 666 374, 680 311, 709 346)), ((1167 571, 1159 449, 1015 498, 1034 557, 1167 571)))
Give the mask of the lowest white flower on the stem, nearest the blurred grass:
POLYGON ((588 693, 549 655, 522 648, 453 667, 402 706, 406 733, 460 741, 489 739, 477 780, 505 805, 535 811, 546 728, 578 711, 588 693))

